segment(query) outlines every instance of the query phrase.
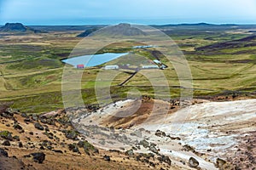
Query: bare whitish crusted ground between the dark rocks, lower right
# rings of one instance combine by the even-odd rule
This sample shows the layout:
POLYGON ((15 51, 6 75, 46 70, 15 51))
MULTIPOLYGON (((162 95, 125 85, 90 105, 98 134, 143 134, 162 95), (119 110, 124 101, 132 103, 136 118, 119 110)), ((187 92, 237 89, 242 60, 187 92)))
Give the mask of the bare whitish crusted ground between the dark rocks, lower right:
MULTIPOLYGON (((113 131, 125 135, 128 138, 128 143, 119 139, 109 139, 108 136, 114 133, 104 128, 99 128, 101 133, 90 132, 90 140, 104 149, 124 147, 128 150, 138 141, 147 139, 148 142, 157 144, 159 153, 170 156, 173 164, 181 169, 190 168, 187 162, 191 156, 200 162, 199 167, 202 169, 216 169, 214 163, 216 163, 217 158, 230 161, 227 163, 226 169, 236 167, 235 164, 230 166, 236 159, 235 152, 239 150, 243 139, 253 134, 253 129, 256 127, 256 99, 226 102, 204 101, 203 103, 197 101, 196 103, 201 104, 191 105, 166 114, 161 114, 161 107, 155 110, 157 114, 150 112, 153 108, 152 105, 164 105, 164 101, 146 100, 142 102, 141 108, 135 112, 136 116, 116 117, 120 111, 122 114, 123 111, 131 111, 132 105, 137 105, 137 103, 137 100, 119 101, 90 113, 89 116, 81 116, 74 122, 79 129, 83 129, 87 133, 90 132, 88 125, 126 128, 125 130, 113 131), (155 136, 154 133, 158 129, 165 132, 166 135, 179 137, 181 140, 155 136), (141 132, 141 136, 131 135, 137 131, 141 132), (102 134, 107 134, 107 138, 102 134), (102 139, 107 144, 99 144, 102 139), (184 144, 189 144, 199 153, 193 153, 193 150, 183 150, 184 144), (181 162, 185 162, 185 165, 181 162)), ((250 144, 248 147, 251 147, 250 144)), ((148 152, 148 150, 142 147, 137 152, 148 152)), ((242 167, 243 161, 240 163, 242 167)), ((255 164, 251 163, 249 168, 253 168, 253 166, 255 164)))

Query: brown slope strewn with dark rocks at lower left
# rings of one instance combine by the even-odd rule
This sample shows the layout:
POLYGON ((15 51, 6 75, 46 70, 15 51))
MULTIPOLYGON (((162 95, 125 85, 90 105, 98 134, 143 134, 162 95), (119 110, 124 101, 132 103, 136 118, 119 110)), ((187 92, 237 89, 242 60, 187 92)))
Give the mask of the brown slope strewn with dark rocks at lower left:
POLYGON ((27 116, 0 105, 1 170, 160 169, 170 164, 151 154, 102 150, 86 138, 73 128, 66 111, 27 116))

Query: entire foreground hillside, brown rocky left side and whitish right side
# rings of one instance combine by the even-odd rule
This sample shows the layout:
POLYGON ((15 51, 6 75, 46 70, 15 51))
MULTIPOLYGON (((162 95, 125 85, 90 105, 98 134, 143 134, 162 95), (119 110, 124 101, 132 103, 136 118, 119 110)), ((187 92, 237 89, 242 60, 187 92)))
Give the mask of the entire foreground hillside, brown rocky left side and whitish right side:
POLYGON ((0 169, 256 168, 255 99, 180 102, 144 97, 40 116, 0 105, 0 169))

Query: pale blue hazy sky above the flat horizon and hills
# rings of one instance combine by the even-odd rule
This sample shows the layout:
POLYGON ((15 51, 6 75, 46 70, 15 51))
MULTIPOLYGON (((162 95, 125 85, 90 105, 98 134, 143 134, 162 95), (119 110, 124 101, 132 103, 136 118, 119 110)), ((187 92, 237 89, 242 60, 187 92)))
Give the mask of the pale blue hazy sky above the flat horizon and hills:
POLYGON ((256 0, 0 0, 0 25, 256 24, 256 0))

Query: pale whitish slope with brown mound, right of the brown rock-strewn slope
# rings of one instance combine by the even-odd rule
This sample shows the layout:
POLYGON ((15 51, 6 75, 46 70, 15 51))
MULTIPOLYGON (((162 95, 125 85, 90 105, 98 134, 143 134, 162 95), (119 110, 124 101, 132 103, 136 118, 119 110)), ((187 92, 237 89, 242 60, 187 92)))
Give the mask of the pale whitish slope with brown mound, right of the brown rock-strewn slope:
POLYGON ((179 101, 128 99, 93 111, 68 112, 73 126, 105 150, 165 157, 177 169, 254 169, 256 100, 192 103, 177 111, 179 101), (164 103, 170 110, 161 114, 164 103), (137 104, 133 115, 121 116, 137 104))

